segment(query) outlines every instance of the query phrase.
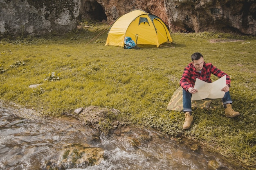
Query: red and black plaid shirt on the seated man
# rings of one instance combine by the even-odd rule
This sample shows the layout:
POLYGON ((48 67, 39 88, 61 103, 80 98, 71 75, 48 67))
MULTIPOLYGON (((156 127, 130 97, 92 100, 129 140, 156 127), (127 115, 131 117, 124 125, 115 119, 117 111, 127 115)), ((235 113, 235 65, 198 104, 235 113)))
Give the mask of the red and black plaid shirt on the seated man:
POLYGON ((200 80, 207 83, 211 83, 211 74, 214 74, 218 78, 226 75, 226 84, 230 87, 229 75, 227 75, 225 72, 222 72, 211 63, 205 62, 201 73, 195 69, 193 63, 189 63, 189 65, 184 68, 184 72, 180 79, 180 86, 188 92, 189 87, 194 87, 196 78, 199 78, 200 80))

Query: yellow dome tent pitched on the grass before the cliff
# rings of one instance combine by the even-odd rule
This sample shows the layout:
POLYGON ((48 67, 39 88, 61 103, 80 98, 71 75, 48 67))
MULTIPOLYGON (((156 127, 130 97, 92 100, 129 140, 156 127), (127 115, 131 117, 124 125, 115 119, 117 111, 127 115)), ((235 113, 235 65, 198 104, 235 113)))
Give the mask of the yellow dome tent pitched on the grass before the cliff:
POLYGON ((124 47, 124 38, 131 37, 137 44, 159 47, 173 42, 166 24, 157 16, 136 9, 117 18, 108 31, 106 46, 124 47))

